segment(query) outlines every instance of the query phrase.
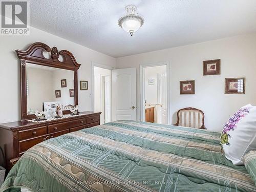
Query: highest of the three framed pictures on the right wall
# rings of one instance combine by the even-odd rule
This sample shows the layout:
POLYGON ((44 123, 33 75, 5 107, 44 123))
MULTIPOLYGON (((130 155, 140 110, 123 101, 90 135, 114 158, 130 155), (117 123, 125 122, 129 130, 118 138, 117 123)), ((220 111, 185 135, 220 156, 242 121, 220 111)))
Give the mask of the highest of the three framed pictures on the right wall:
POLYGON ((203 75, 220 75, 221 59, 203 61, 203 75))

